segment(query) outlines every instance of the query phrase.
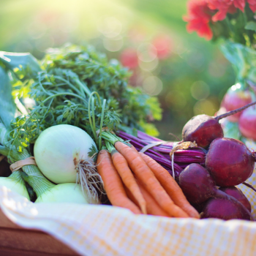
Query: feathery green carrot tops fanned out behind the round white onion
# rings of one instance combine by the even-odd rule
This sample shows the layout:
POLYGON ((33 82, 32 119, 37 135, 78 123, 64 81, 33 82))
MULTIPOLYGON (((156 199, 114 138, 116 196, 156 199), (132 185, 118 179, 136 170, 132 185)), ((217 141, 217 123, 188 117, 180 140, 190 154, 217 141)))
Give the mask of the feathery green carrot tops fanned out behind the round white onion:
MULTIPOLYGON (((51 49, 42 60, 42 70, 37 72, 36 78, 29 70, 31 64, 26 67, 17 70, 18 78, 27 79, 21 83, 15 80, 15 90, 20 95, 24 90, 26 94, 31 84, 29 95, 37 105, 28 116, 19 116, 12 121, 10 143, 18 146, 18 151, 34 142, 42 130, 56 124, 80 127, 94 138, 97 146, 101 146, 101 140, 96 137, 96 131, 101 127, 111 131, 122 124, 143 130, 148 121, 161 118, 157 99, 143 94, 138 88, 129 87, 127 69, 116 60, 108 61, 105 55, 90 46, 67 45, 51 49), (95 94, 89 105, 92 92, 99 94, 99 98, 95 94)), ((156 134, 157 129, 152 125, 151 129, 156 134)))

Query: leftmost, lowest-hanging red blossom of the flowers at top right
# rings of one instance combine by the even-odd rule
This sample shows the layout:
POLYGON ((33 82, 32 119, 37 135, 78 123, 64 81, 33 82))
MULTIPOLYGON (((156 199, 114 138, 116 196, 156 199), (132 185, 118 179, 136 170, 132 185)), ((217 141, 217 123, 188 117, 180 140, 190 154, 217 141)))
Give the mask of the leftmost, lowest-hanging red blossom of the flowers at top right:
POLYGON ((199 37, 210 40, 213 36, 209 22, 211 21, 211 10, 208 8, 207 0, 191 0, 188 2, 188 15, 184 20, 188 22, 187 31, 197 31, 199 37))

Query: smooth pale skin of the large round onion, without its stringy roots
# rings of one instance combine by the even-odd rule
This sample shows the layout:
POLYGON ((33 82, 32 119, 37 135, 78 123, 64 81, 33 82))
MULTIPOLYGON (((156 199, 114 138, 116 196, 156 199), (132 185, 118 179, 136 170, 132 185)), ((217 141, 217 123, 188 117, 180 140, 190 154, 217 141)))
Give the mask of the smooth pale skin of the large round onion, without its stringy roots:
POLYGON ((94 140, 78 127, 59 124, 45 129, 34 144, 34 157, 39 170, 56 184, 76 182, 76 165, 89 159, 94 140))

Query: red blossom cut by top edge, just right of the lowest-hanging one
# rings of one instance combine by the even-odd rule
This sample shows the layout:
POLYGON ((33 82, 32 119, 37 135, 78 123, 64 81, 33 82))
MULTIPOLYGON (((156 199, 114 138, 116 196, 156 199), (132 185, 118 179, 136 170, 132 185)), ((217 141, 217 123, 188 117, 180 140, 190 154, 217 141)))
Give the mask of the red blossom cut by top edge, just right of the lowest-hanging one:
POLYGON ((212 18, 213 21, 224 20, 227 12, 234 13, 236 12, 236 8, 244 12, 245 0, 207 0, 207 2, 208 7, 211 10, 218 10, 218 12, 212 18))

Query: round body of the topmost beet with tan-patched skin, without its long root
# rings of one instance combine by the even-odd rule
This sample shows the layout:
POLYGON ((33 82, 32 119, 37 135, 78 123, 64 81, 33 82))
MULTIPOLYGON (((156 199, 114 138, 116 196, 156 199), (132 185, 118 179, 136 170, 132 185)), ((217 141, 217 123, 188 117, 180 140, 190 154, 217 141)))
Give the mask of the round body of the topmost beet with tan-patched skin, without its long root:
POLYGON ((197 146, 202 148, 208 148, 211 141, 223 136, 223 130, 219 121, 207 115, 194 116, 182 129, 184 141, 195 141, 197 146))

